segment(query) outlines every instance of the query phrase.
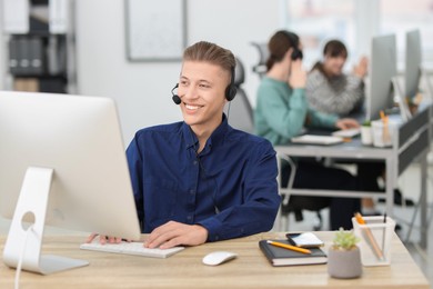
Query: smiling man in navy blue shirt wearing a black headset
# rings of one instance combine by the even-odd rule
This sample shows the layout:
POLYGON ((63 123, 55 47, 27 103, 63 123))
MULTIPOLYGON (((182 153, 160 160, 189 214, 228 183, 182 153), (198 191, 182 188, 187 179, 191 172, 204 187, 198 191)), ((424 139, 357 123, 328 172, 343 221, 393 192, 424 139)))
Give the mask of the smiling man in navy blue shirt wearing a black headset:
POLYGON ((232 52, 216 44, 187 48, 173 94, 183 121, 142 129, 128 147, 145 247, 197 246, 273 226, 280 196, 272 144, 231 128, 223 113, 235 96, 234 67, 232 52))

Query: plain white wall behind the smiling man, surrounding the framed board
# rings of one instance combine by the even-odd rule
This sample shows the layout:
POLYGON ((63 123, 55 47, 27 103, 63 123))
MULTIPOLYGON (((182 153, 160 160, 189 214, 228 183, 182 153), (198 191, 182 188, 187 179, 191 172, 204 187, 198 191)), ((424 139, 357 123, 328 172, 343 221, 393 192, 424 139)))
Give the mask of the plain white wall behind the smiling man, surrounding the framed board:
MULTIPOLYGON (((259 78, 251 68, 259 53, 251 41, 266 41, 279 28, 279 0, 187 0, 187 7, 188 43, 231 49, 245 64, 245 90, 255 103, 259 78)), ((77 56, 79 92, 115 99, 125 143, 139 128, 181 120, 170 93, 180 62, 127 60, 123 0, 77 1, 77 56)))

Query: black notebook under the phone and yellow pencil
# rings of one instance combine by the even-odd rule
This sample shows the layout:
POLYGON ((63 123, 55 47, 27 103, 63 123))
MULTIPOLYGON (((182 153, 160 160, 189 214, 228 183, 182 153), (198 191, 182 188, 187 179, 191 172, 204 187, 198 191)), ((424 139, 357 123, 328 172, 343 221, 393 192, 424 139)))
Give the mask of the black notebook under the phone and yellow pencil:
MULTIPOLYGON (((290 245, 288 240, 273 240, 290 245)), ((294 266, 326 263, 328 257, 320 248, 310 248, 311 255, 292 251, 268 243, 268 240, 259 241, 259 247, 272 266, 294 266)))

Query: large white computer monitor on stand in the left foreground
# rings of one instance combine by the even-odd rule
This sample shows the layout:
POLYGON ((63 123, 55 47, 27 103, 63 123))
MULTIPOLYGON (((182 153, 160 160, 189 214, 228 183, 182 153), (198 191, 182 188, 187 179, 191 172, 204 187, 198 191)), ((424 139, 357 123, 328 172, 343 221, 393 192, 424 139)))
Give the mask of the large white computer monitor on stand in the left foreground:
POLYGON ((41 256, 46 225, 140 237, 111 99, 0 91, 0 213, 12 218, 3 251, 9 267, 21 252, 22 268, 40 273, 88 263, 41 256))

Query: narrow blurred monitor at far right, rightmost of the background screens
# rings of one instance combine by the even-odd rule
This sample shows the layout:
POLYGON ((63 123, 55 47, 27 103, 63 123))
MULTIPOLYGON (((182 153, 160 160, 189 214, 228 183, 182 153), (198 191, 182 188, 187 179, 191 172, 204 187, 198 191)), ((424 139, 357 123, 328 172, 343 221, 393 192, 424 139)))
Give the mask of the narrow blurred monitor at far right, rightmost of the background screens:
POLYGON ((421 79, 421 33, 420 30, 406 33, 406 59, 404 72, 404 97, 413 98, 419 92, 421 79))

